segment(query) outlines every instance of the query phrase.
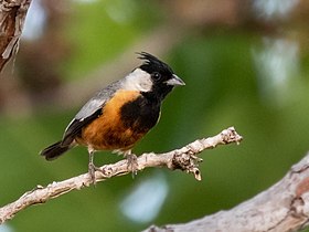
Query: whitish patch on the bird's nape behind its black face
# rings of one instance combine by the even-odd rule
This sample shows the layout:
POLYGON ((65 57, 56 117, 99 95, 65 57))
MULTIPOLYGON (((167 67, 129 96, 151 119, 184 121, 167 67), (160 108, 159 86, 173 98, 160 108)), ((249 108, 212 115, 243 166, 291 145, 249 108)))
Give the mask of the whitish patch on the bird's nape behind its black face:
POLYGON ((136 68, 124 80, 122 88, 127 91, 149 92, 152 88, 152 81, 149 73, 136 68))

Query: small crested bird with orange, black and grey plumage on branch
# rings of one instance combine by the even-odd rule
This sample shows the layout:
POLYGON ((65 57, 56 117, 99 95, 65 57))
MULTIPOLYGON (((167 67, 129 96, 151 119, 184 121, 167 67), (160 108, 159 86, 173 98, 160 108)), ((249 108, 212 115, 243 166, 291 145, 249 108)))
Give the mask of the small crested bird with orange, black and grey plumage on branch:
POLYGON ((62 140, 43 149, 41 156, 53 160, 76 145, 86 146, 94 182, 95 171, 100 170, 94 165, 97 150, 122 154, 136 171, 132 147, 158 123, 164 97, 174 86, 184 85, 168 64, 146 52, 137 54, 143 63, 97 92, 71 120, 62 140))

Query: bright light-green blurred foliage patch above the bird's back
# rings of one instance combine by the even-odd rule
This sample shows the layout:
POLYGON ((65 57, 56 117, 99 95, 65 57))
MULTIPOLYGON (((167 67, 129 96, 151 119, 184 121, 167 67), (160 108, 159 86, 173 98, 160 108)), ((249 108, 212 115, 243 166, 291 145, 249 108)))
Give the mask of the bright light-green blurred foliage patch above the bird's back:
POLYGON ((63 64, 68 78, 83 77, 163 19, 163 11, 152 1, 76 3, 71 14, 64 36, 76 49, 72 59, 63 64))

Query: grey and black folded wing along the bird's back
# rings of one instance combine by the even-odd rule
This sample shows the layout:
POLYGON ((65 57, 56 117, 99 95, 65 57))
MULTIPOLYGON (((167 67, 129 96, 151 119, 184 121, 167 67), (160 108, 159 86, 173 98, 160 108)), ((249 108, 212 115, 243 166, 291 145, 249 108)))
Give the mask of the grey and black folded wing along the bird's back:
POLYGON ((63 135, 62 145, 70 145, 76 135, 81 134, 81 130, 85 125, 97 118, 102 114, 102 107, 108 102, 108 99, 110 99, 119 87, 120 82, 118 81, 97 92, 68 124, 63 135))

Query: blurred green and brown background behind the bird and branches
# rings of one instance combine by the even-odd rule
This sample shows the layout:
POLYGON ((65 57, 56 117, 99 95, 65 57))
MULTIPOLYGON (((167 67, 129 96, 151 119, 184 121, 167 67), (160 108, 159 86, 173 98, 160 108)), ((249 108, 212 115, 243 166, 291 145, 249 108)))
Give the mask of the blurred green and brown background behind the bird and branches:
MULTIPOLYGON (((150 52, 185 81, 134 149, 168 151, 235 126, 239 146, 204 151, 202 181, 147 169, 31 207, 1 232, 140 231, 231 209, 278 181, 309 149, 309 2, 33 0, 0 78, 0 205, 87 171, 85 148, 47 162, 97 89, 150 52)), ((121 157, 98 152, 96 165, 121 157)))

